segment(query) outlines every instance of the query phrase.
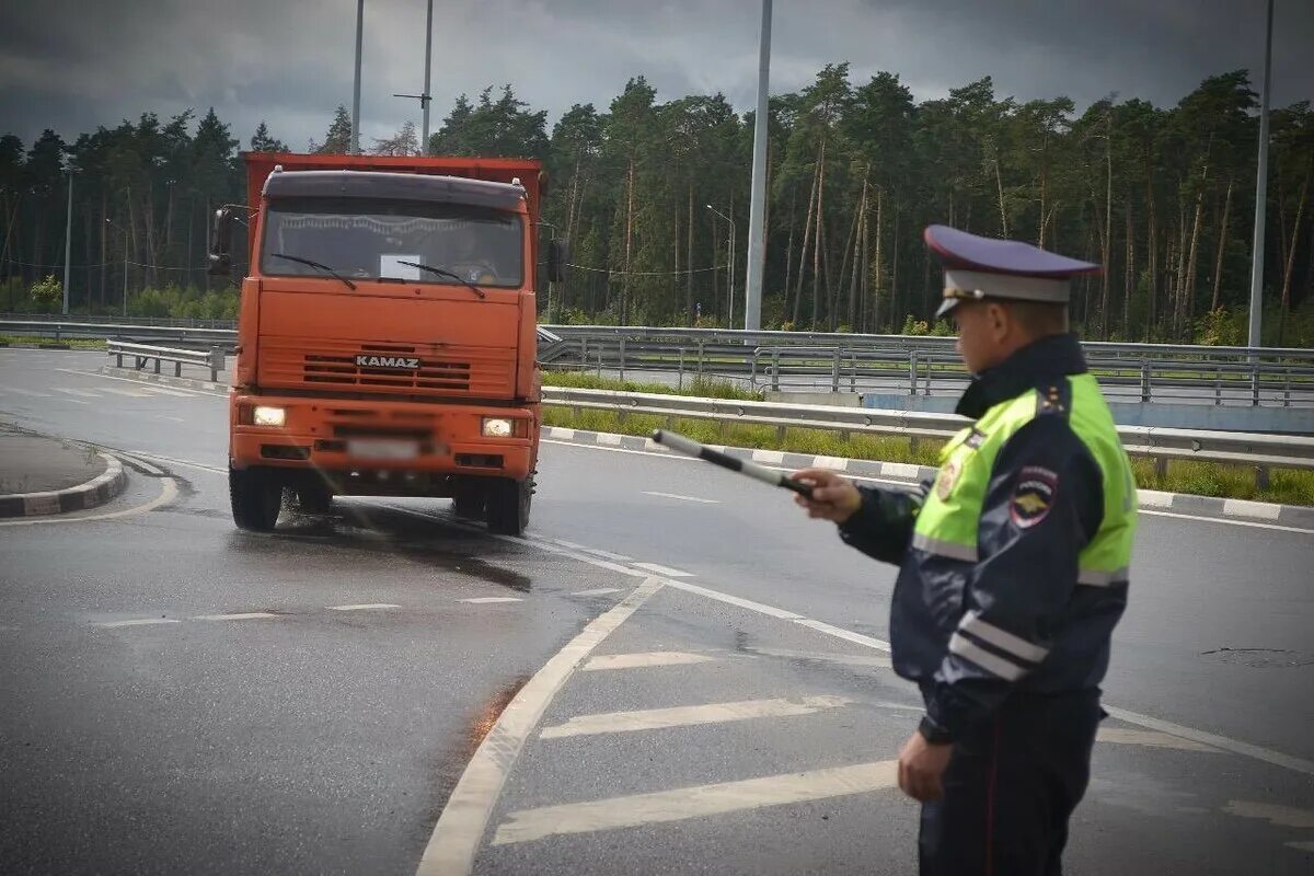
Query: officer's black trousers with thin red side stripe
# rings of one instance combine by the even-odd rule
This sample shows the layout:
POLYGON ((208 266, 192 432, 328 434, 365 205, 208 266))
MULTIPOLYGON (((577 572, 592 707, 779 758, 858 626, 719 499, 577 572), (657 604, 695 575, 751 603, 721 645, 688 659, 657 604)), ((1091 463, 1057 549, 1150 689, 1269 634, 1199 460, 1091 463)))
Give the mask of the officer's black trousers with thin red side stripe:
POLYGON ((1099 690, 1013 693, 955 741, 945 796, 921 808, 921 876, 1062 873, 1102 716, 1099 690))

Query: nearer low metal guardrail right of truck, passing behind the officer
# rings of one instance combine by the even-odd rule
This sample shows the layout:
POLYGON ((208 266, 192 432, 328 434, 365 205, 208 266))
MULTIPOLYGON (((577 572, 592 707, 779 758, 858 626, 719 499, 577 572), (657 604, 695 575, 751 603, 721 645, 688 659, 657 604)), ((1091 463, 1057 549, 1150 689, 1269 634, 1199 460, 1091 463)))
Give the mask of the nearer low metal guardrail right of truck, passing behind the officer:
MULTIPOLYGON (((714 420, 788 428, 917 439, 946 439, 970 420, 954 414, 784 405, 656 393, 620 393, 594 389, 543 387, 543 403, 573 410, 604 410, 675 419, 714 420)), ((1314 437, 1252 435, 1120 426, 1118 439, 1130 456, 1155 460, 1160 470, 1168 460, 1194 460, 1244 465, 1263 482, 1271 468, 1314 469, 1314 437)))

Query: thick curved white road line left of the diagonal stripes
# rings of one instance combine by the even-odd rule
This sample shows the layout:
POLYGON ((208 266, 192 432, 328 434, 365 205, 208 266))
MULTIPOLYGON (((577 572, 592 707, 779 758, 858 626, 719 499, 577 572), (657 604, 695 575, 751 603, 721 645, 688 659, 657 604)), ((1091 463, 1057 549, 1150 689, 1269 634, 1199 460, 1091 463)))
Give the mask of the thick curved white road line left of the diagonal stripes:
MULTIPOLYGON (((598 561, 600 562, 600 561, 598 561)), ((469 873, 474 855, 487 827, 506 776, 515 766, 524 741, 537 725, 574 668, 600 645, 607 636, 662 588, 660 578, 646 578, 614 608, 589 621, 589 625, 533 674, 510 704, 502 709, 493 729, 474 751, 465 772, 443 806, 434 834, 424 847, 417 876, 449 876, 469 873)))

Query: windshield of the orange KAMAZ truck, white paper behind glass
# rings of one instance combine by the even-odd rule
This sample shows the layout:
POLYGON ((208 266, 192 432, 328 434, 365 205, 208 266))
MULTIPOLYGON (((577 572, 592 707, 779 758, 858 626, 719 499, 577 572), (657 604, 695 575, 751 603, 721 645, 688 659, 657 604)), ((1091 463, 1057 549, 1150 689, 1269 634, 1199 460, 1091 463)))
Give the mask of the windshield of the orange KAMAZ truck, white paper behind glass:
POLYGON ((318 263, 357 280, 516 288, 524 276, 523 234, 519 215, 487 208, 279 198, 271 201, 265 215, 260 271, 265 276, 322 276, 323 271, 310 264, 318 263))

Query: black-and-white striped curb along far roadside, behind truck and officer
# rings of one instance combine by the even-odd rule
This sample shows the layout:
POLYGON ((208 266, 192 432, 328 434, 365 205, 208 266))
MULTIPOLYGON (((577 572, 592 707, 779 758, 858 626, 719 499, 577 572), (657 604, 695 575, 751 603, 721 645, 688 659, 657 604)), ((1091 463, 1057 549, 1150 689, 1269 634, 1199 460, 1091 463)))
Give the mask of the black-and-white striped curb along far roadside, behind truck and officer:
MULTIPOLYGON (((180 389, 200 389, 222 395, 227 395, 229 393, 229 387, 223 383, 213 383, 189 377, 168 377, 110 365, 101 368, 100 372, 114 377, 130 377, 164 386, 177 386, 180 389)), ((639 435, 587 432, 585 429, 568 429, 560 426, 544 426, 541 435, 553 441, 569 441, 570 444, 579 444, 582 447, 612 447, 623 450, 671 453, 671 450, 656 444, 652 439, 639 435)), ((716 447, 716 449, 729 456, 752 460, 763 465, 779 465, 787 469, 834 469, 836 471, 844 471, 845 474, 861 478, 887 478, 904 481, 909 485, 932 481, 936 477, 936 469, 911 462, 846 460, 834 456, 808 456, 805 453, 788 453, 786 450, 754 450, 741 447, 716 447)), ((1255 520, 1314 529, 1314 508, 1303 506, 1251 502, 1248 499, 1217 499, 1213 496, 1197 496, 1189 493, 1162 493, 1159 490, 1138 490, 1137 495, 1139 506, 1147 511, 1171 511, 1173 514, 1188 514, 1201 517, 1255 520)))

